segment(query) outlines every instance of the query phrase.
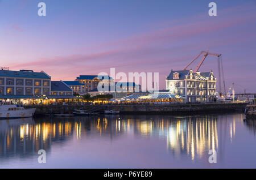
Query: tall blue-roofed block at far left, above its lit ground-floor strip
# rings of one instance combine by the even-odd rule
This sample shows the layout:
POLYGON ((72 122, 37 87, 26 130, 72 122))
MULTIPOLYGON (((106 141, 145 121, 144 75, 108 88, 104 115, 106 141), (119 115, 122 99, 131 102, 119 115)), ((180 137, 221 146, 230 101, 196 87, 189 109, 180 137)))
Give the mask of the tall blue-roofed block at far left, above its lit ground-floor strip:
POLYGON ((0 95, 33 96, 50 95, 51 76, 31 70, 0 70, 0 95))

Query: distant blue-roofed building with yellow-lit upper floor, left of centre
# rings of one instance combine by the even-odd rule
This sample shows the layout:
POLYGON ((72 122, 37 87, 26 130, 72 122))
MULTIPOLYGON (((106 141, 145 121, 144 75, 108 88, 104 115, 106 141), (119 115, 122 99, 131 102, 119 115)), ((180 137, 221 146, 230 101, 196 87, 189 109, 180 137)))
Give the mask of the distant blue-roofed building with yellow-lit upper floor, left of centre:
POLYGON ((80 75, 76 78, 76 81, 84 84, 84 92, 89 92, 97 88, 98 83, 114 83, 114 79, 112 79, 110 76, 103 76, 102 79, 100 79, 97 75, 80 75))

